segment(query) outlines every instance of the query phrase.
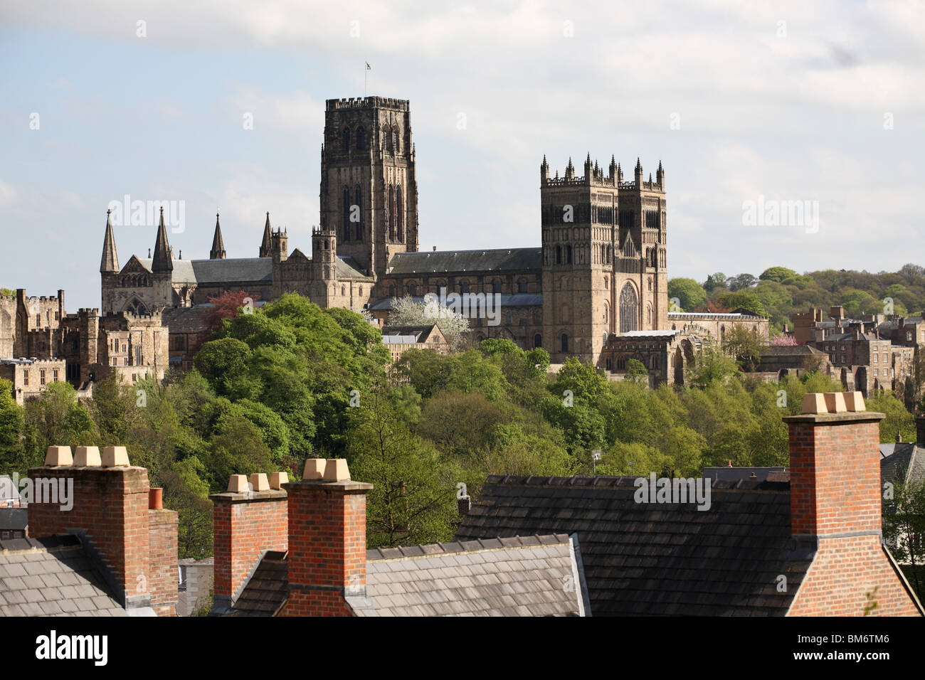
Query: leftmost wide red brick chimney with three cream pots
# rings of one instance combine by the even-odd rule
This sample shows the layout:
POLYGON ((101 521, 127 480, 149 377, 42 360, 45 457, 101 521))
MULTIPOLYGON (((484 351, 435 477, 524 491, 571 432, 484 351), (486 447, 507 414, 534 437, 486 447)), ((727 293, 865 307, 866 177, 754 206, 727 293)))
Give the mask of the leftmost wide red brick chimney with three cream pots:
POLYGON ((31 536, 80 536, 126 609, 150 606, 158 615, 176 615, 177 513, 149 510, 148 471, 129 465, 125 447, 106 447, 101 456, 95 446, 80 446, 72 456, 70 447, 52 446, 29 477, 36 489, 31 536), (57 498, 47 493, 53 485, 57 498))

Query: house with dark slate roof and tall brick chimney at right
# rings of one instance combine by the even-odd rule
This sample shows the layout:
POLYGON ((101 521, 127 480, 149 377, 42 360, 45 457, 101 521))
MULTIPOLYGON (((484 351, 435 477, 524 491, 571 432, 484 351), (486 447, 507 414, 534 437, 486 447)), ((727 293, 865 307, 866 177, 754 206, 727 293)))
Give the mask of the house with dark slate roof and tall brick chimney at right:
POLYGON ((596 616, 920 616, 882 544, 883 417, 808 394, 783 418, 789 481, 709 480, 705 510, 633 477, 489 476, 455 538, 577 534, 596 616))

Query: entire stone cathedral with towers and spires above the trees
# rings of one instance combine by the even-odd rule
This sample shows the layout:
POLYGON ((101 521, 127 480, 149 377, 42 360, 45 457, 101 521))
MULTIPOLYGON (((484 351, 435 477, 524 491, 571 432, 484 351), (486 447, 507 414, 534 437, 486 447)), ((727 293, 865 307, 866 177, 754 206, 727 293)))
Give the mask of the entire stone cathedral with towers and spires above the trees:
POLYGON ((722 340, 734 325, 767 337, 768 319, 744 310, 670 309, 661 164, 654 180, 638 159, 624 177, 612 156, 604 167, 587 155, 582 174, 570 159, 560 175, 550 174, 544 156, 541 247, 421 252, 415 163, 407 101, 327 100, 320 226, 310 254, 290 251, 287 231, 274 229, 267 213, 255 256, 228 257, 216 216, 209 259, 184 260, 173 254, 162 214, 154 252, 119 267, 107 220, 102 314, 163 314, 179 348, 180 338, 197 330, 192 310, 225 291, 265 302, 298 292, 322 307, 365 310, 387 325, 396 297, 498 293, 499 325, 473 318, 472 340, 508 338, 546 349, 553 364, 577 357, 613 374, 636 358, 655 383, 684 382, 699 343, 722 340))

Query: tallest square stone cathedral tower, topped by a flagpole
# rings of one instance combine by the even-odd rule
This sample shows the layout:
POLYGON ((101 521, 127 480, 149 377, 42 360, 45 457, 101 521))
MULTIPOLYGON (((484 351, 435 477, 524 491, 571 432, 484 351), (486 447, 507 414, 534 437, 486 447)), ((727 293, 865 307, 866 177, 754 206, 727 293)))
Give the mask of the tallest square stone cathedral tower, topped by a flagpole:
POLYGON ((340 255, 382 278, 394 253, 418 248, 417 182, 409 103, 329 99, 321 149, 321 229, 340 255))

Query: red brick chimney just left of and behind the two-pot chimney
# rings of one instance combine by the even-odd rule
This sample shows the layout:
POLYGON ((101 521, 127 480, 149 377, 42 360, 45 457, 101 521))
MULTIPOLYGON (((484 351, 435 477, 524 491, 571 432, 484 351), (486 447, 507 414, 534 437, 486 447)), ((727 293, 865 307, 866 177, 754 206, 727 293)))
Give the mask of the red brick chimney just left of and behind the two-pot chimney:
POLYGON ((254 474, 251 482, 232 475, 226 493, 213 502, 215 604, 213 612, 228 612, 267 550, 287 550, 289 521, 285 473, 254 474))

